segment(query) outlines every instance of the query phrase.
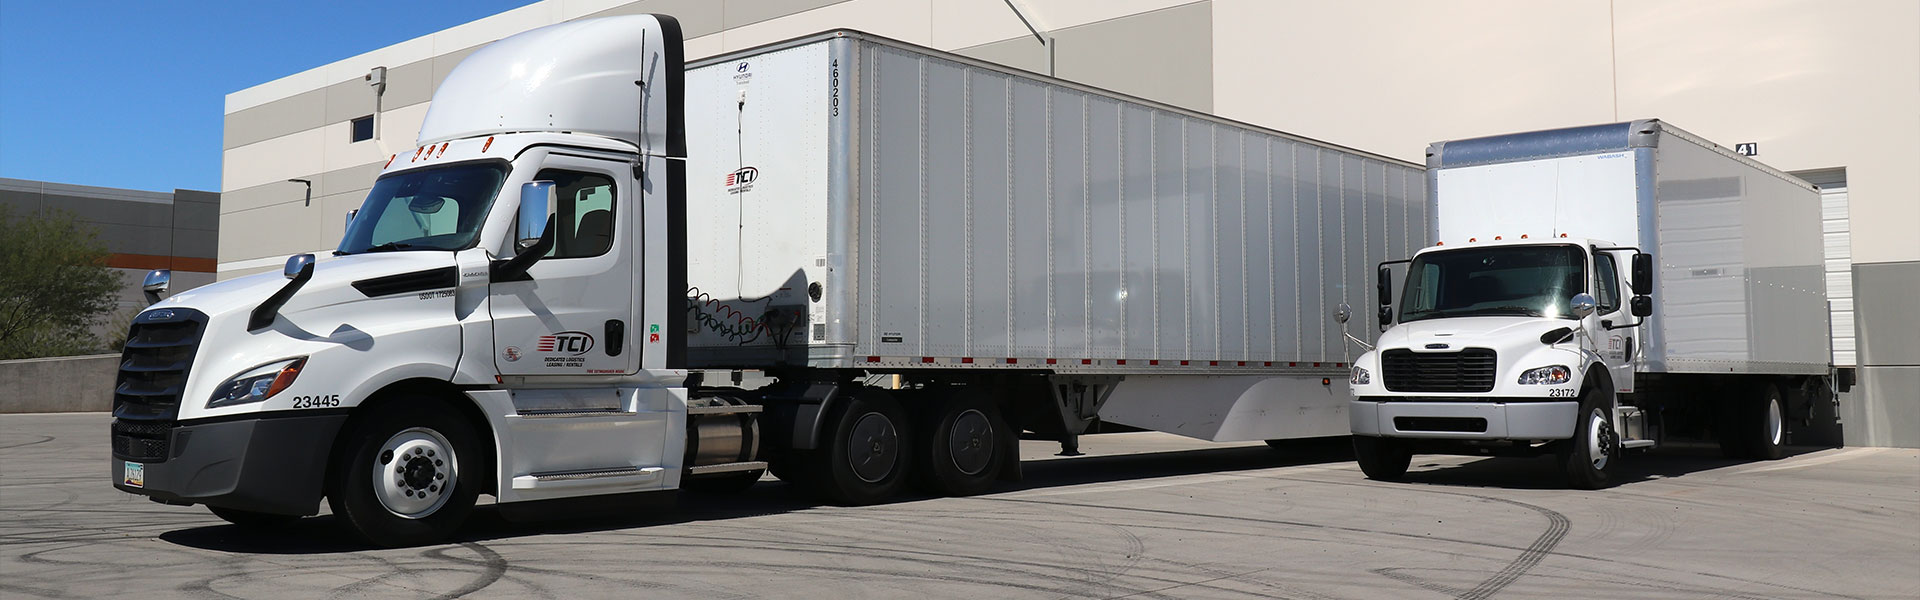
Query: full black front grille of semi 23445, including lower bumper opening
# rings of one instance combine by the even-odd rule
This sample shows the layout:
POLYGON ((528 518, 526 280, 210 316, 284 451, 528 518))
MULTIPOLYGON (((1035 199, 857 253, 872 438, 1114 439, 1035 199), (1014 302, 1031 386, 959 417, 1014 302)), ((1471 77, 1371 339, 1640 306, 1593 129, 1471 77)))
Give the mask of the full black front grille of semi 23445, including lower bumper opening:
POLYGON ((113 458, 167 460, 167 433, 205 325, 205 313, 186 308, 150 310, 132 321, 113 383, 113 458))

